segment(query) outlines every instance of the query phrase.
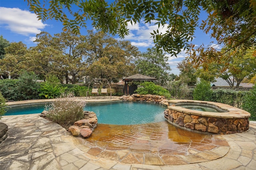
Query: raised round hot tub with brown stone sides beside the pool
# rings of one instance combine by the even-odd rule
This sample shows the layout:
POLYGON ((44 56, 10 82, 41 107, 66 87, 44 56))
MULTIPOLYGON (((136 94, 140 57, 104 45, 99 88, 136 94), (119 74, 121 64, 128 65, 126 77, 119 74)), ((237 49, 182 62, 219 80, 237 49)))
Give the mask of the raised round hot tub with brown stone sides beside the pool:
POLYGON ((164 112, 173 125, 222 135, 247 131, 250 116, 249 112, 227 104, 199 100, 169 100, 164 112))

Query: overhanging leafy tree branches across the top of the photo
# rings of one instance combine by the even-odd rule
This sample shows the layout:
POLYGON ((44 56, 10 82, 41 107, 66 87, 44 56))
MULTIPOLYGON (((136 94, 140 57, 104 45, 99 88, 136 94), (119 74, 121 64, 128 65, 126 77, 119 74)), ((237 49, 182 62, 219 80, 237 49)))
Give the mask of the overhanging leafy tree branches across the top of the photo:
MULTIPOLYGON (((201 11, 206 12, 208 18, 202 21, 200 28, 210 33, 218 44, 227 45, 227 51, 256 44, 255 0, 51 0, 42 4, 38 0, 26 1, 38 19, 62 21, 63 30, 74 33, 79 33, 80 26, 86 27, 86 20, 92 20, 97 30, 120 37, 128 35, 128 22, 154 23, 158 29, 151 34, 156 47, 175 56, 182 49, 190 49, 189 42, 200 24, 201 11), (165 33, 159 31, 162 25, 168 25, 165 33)), ((188 53, 197 65, 223 54, 214 48, 200 46, 195 50, 194 47, 188 53)))

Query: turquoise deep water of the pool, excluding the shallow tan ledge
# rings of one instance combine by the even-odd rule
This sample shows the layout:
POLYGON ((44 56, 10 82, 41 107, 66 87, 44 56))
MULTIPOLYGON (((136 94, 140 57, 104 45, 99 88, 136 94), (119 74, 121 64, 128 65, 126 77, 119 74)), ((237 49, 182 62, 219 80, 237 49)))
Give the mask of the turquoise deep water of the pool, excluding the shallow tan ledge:
MULTIPOLYGON (((5 115, 41 113, 45 104, 13 106, 5 115)), ((143 102, 89 103, 84 110, 93 111, 98 123, 112 125, 134 125, 164 121, 165 106, 143 102)))

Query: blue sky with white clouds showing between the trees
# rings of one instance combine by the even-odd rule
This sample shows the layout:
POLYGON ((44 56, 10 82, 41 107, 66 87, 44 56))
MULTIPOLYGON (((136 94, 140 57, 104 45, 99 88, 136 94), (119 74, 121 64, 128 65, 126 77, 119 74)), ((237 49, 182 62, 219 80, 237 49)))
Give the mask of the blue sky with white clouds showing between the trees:
MULTIPOLYGON (((201 20, 206 17, 206 14, 200 16, 201 20)), ((22 41, 27 47, 36 46, 36 43, 33 42, 36 34, 46 31, 54 35, 61 33, 62 27, 60 21, 47 20, 44 23, 38 21, 36 14, 29 11, 27 2, 24 2, 24 0, 0 0, 0 35, 10 43, 22 41)), ((156 25, 141 22, 136 25, 128 25, 128 28, 130 29, 130 34, 124 40, 131 41, 132 45, 138 47, 141 52, 145 52, 147 48, 154 46, 153 39, 150 38, 150 32, 157 28, 156 25)), ((87 24, 87 29, 93 28, 87 24)), ((87 29, 82 28, 81 34, 86 35, 87 29)), ((164 28, 162 31, 164 31, 164 28)), ((119 38, 116 37, 116 39, 119 38)), ((198 28, 191 43, 198 46, 202 45, 202 43, 204 45, 214 45, 210 43, 211 41, 213 39, 210 39, 210 35, 206 35, 198 28)), ((171 72, 179 74, 176 66, 186 57, 185 52, 180 53, 177 58, 170 57, 170 55, 168 57, 168 63, 172 68, 171 72)))

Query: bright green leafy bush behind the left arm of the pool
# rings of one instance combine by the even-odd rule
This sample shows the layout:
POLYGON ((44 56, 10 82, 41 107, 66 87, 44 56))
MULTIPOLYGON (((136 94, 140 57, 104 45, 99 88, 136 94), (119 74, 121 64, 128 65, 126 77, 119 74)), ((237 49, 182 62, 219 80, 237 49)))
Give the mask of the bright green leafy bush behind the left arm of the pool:
POLYGON ((64 94, 66 87, 59 85, 50 84, 49 82, 44 82, 40 84, 38 89, 39 96, 46 99, 53 99, 59 97, 61 94, 64 94))

